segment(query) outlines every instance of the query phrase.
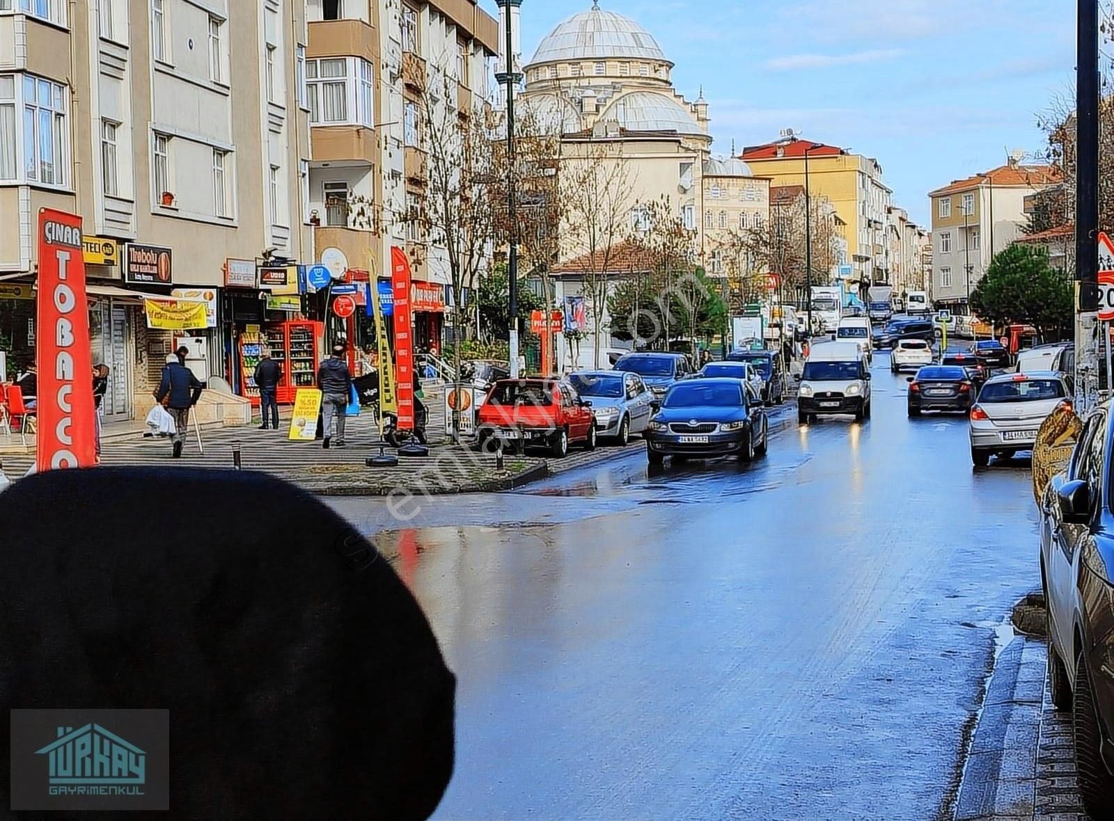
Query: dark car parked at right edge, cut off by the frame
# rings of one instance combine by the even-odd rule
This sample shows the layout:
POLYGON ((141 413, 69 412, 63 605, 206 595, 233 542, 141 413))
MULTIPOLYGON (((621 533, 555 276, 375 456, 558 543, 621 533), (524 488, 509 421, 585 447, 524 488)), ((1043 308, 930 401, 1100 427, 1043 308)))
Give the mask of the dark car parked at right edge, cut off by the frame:
POLYGON ((1114 818, 1114 507, 1111 404, 1087 417, 1067 471, 1045 488, 1040 580, 1047 603, 1049 696, 1072 710, 1079 793, 1091 818, 1114 818))

